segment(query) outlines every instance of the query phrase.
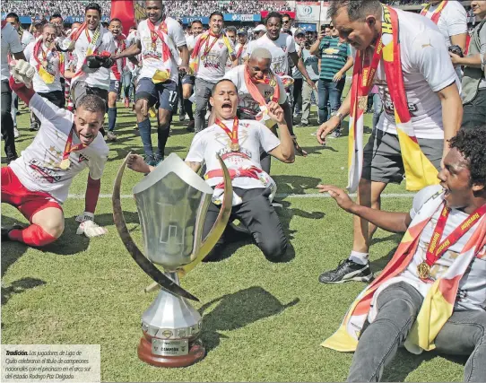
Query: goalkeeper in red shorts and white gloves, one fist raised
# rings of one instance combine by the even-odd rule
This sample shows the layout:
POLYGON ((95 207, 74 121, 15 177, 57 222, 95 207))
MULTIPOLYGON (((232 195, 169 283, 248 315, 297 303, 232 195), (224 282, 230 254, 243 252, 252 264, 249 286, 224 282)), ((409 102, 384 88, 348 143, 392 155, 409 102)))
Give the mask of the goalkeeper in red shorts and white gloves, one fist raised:
POLYGON ((39 134, 21 157, 2 168, 2 202, 13 205, 29 220, 30 226, 2 228, 2 241, 16 240, 42 247, 64 231, 62 204, 74 177, 90 170, 84 213, 78 234, 95 237, 106 230, 94 223, 100 195, 100 178, 108 159, 108 145, 101 135, 105 100, 87 94, 75 113, 59 109, 31 87, 34 68, 23 60, 13 62, 10 86, 40 121, 39 134))

